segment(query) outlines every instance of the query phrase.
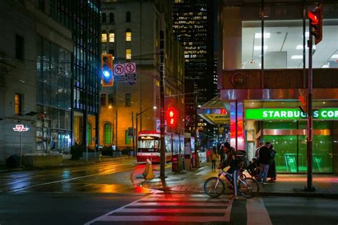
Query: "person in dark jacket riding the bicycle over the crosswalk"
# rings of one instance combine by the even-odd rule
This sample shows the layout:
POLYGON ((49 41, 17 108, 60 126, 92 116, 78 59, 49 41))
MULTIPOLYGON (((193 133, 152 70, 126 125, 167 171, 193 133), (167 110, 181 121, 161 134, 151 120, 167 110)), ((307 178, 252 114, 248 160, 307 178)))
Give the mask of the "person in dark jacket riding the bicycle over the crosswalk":
POLYGON ((230 166, 230 168, 227 169, 227 172, 232 174, 234 192, 235 196, 237 196, 238 172, 240 171, 239 161, 235 155, 235 149, 233 147, 230 147, 230 144, 228 142, 225 142, 223 146, 224 147, 222 148, 222 150, 225 153, 227 159, 225 160, 225 162, 221 162, 217 169, 224 169, 225 167, 230 166))

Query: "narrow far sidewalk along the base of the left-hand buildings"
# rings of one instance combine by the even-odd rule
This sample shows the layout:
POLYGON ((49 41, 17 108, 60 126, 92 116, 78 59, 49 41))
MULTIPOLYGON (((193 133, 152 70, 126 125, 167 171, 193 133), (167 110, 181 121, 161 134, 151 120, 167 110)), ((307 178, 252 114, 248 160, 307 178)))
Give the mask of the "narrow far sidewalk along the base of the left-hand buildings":
POLYGON ((93 164, 99 162, 112 162, 116 160, 125 160, 130 159, 128 155, 122 155, 121 157, 110 157, 110 156, 102 156, 101 161, 98 160, 71 160, 71 159, 63 159, 61 164, 53 164, 53 165, 43 165, 39 167, 23 167, 23 168, 7 168, 6 164, 0 164, 0 173, 1 172, 14 172, 14 171, 21 171, 21 170, 28 170, 28 169, 45 169, 45 168, 55 168, 55 167, 73 167, 79 165, 86 165, 86 164, 93 164))

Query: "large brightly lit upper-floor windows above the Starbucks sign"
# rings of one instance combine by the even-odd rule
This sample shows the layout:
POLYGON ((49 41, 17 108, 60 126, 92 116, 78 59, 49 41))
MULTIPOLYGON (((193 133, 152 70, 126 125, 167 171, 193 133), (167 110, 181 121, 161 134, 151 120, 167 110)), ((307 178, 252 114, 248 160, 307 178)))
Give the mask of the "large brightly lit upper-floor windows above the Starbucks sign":
MULTIPOLYGON (((338 67, 337 5, 324 4, 323 38, 313 46, 313 68, 338 67)), ((225 68, 306 68, 309 20, 303 11, 315 6, 314 1, 257 1, 225 7, 225 68)))

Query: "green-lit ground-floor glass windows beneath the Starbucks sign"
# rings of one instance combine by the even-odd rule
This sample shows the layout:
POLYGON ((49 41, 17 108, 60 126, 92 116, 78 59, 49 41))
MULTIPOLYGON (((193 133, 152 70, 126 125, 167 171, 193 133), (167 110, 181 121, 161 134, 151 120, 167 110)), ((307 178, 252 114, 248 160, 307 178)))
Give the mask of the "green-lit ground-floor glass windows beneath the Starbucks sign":
MULTIPOLYGON (((263 122, 264 129, 307 129, 307 121, 263 122)), ((332 121, 314 121, 314 130, 332 130, 332 121)), ((305 135, 264 135, 277 151, 277 172, 307 172, 307 140, 305 135)), ((333 172, 332 135, 314 135, 312 142, 313 172, 333 172)))

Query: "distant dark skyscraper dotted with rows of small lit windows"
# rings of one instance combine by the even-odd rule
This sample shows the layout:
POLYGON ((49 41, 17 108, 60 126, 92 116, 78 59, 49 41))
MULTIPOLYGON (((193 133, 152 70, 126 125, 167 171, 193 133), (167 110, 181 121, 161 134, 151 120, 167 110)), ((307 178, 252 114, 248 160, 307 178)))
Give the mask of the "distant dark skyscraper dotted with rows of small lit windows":
POLYGON ((174 0, 173 30, 185 54, 185 132, 203 130, 196 110, 215 96, 212 1, 174 0))

